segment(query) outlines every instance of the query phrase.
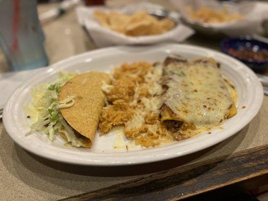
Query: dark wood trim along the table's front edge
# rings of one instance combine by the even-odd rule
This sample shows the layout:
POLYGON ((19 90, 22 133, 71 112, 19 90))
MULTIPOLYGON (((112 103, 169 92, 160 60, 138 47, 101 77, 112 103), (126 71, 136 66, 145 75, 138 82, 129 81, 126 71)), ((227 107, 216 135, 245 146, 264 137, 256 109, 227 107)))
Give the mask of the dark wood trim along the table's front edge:
POLYGON ((263 145, 62 200, 180 200, 267 174, 268 145, 263 145))

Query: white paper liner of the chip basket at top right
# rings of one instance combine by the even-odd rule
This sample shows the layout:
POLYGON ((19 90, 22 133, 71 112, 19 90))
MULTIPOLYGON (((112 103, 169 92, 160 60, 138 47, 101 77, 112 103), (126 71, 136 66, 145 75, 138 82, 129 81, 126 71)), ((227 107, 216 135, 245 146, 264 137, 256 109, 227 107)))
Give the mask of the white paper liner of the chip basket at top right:
MULTIPOLYGON (((191 5, 194 9, 200 6, 206 6, 212 9, 221 9, 222 5, 216 0, 169 0, 175 9, 180 11, 181 15, 189 18, 187 7, 191 5)), ((240 35, 251 35, 262 32, 262 21, 268 19, 268 3, 265 2, 241 2, 229 7, 230 12, 243 15, 240 20, 234 20, 226 23, 201 23, 204 26, 211 27, 225 33, 228 36, 235 37, 240 35)))

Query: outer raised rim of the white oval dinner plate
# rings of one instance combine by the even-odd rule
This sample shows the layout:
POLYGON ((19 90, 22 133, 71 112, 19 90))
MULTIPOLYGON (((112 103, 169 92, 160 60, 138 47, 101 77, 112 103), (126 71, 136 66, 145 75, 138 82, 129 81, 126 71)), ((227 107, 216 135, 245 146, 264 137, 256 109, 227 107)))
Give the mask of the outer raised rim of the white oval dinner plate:
MULTIPOLYGON (((77 159, 77 158, 68 158, 68 157, 64 157, 61 156, 60 158, 54 158, 53 156, 50 156, 51 154, 44 154, 44 152, 41 151, 36 151, 36 150, 32 150, 31 148, 29 148, 26 144, 23 143, 23 141, 20 141, 19 137, 16 135, 16 133, 14 133, 13 128, 11 128, 9 126, 9 121, 12 120, 11 116, 9 115, 9 112, 11 110, 11 106, 13 104, 13 97, 16 96, 16 92, 18 92, 24 85, 30 83, 32 80, 34 80, 35 78, 37 78, 37 74, 40 72, 36 72, 33 74, 33 76, 31 77, 31 79, 24 81, 19 87, 16 88, 16 90, 11 94, 11 96, 8 98, 6 106, 4 108, 3 111, 3 124, 4 127, 7 131, 7 133, 9 134, 9 136, 19 145, 21 146, 23 149, 38 155, 40 157, 49 159, 49 160, 54 160, 54 161, 58 161, 58 162, 63 162, 63 163, 69 163, 69 164, 77 164, 77 165, 91 165, 91 166, 118 166, 118 165, 133 165, 133 164, 143 164, 143 163, 149 163, 149 162, 156 162, 156 161, 161 161, 161 160, 166 160, 166 159, 171 159, 171 158, 175 158, 178 156, 182 156, 182 155, 188 155, 203 149, 206 149, 208 147, 211 147, 215 144, 218 144, 220 142, 222 142, 225 139, 228 139, 229 137, 235 135, 239 130, 241 130, 242 128, 244 128, 258 113, 261 105, 262 105, 262 101, 263 101, 263 92, 262 92, 262 86, 261 83, 258 81, 257 76, 253 73, 253 71, 251 69, 249 69, 245 64, 243 64, 242 62, 240 62, 239 60, 230 57, 229 55, 223 54, 219 51, 213 50, 213 49, 209 49, 209 48, 204 48, 201 46, 196 46, 196 45, 188 45, 188 44, 176 44, 176 43, 165 43, 165 44, 158 44, 158 45, 149 45, 149 46, 113 46, 113 47, 108 47, 108 48, 100 48, 97 50, 92 50, 92 51, 87 51, 84 52, 82 54, 78 54, 78 55, 74 55, 71 57, 68 57, 66 59, 63 59, 61 61, 58 61, 48 67, 46 67, 46 69, 44 71, 41 71, 41 73, 48 73, 49 71, 54 71, 55 69, 57 69, 57 66, 60 66, 61 64, 64 64, 66 62, 70 62, 72 60, 74 60, 74 63, 77 63, 77 61, 75 62, 75 60, 79 60, 81 58, 83 58, 84 56, 90 57, 90 54, 96 54, 99 52, 105 52, 105 51, 111 51, 111 50, 122 50, 124 48, 127 48, 129 50, 131 49, 144 49, 147 50, 147 48, 156 48, 156 47, 161 47, 161 48, 168 48, 169 46, 176 46, 178 48, 194 48, 194 49, 199 49, 199 50, 205 50, 206 52, 213 52, 214 54, 218 54, 221 55, 223 57, 226 57, 228 59, 231 59, 233 62, 238 63, 240 66, 243 66, 243 68, 245 68, 247 70, 247 72, 251 75, 252 78, 254 78, 254 80, 256 81, 256 84, 258 85, 256 91, 258 93, 258 95, 260 95, 259 97, 255 98, 258 100, 258 105, 255 108, 255 111, 253 114, 251 114, 250 118, 248 121, 246 122, 242 122, 242 124, 240 124, 240 126, 236 127, 232 132, 230 132, 228 135, 225 135, 224 137, 218 137, 216 139, 214 139, 213 142, 207 143, 205 145, 196 147, 196 148, 192 148, 190 150, 186 150, 185 152, 181 152, 181 153, 172 153, 169 155, 154 155, 154 157, 147 157, 147 158, 142 158, 136 161, 92 161, 92 160, 81 160, 81 159, 77 159), (261 91, 261 93, 260 93, 261 91)), ((254 100, 255 100, 254 99, 254 100)), ((13 119, 14 120, 14 119, 13 119)), ((173 148, 170 148, 173 149, 173 148)), ((153 149, 151 149, 153 150, 153 149)), ((153 152, 153 151, 152 151, 153 152)), ((157 152, 157 151, 156 151, 157 152)), ((126 152, 128 153, 128 155, 131 155, 131 152, 126 152)), ((126 153, 119 153, 119 154, 126 154, 126 153)), ((134 152, 133 152, 134 153, 134 152)), ((96 154, 96 153, 94 153, 96 154)), ((109 153, 106 153, 109 155, 109 153)), ((113 153, 115 154, 115 153, 113 153)), ((117 155, 118 153, 116 153, 115 155, 117 155)))

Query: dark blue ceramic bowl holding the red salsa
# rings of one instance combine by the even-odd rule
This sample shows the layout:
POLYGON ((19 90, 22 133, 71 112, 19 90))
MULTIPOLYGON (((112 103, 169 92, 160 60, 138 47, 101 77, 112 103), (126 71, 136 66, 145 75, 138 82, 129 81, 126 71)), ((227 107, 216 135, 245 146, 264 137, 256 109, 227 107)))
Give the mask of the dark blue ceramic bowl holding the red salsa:
POLYGON ((231 48, 234 50, 238 50, 241 48, 247 48, 247 49, 249 48, 249 49, 253 50, 253 48, 254 48, 254 50, 257 49, 257 51, 258 50, 267 50, 268 51, 268 44, 267 43, 251 39, 250 37, 226 38, 226 39, 223 39, 221 41, 221 50, 222 50, 222 52, 242 61, 243 63, 245 63, 247 66, 249 66, 253 70, 261 70, 261 69, 268 67, 268 58, 266 59, 266 61, 256 61, 256 60, 252 60, 252 59, 245 59, 245 58, 237 57, 237 56, 234 56, 228 52, 228 50, 231 48))

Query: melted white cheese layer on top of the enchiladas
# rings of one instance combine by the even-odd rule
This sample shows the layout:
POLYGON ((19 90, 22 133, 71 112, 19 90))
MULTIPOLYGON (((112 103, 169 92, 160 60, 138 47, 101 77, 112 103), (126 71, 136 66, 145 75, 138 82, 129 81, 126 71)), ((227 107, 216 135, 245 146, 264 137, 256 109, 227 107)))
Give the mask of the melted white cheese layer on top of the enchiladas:
POLYGON ((234 104, 220 70, 209 62, 169 64, 165 105, 185 123, 214 126, 234 104))

